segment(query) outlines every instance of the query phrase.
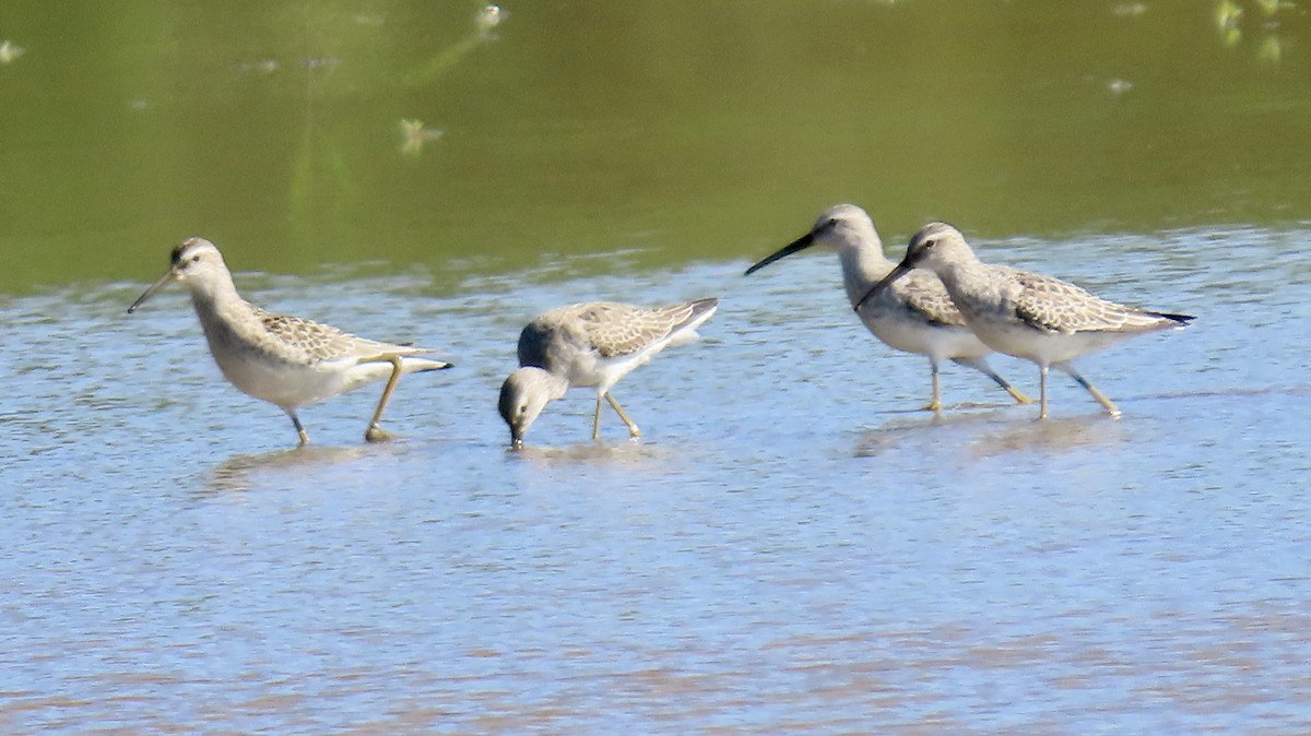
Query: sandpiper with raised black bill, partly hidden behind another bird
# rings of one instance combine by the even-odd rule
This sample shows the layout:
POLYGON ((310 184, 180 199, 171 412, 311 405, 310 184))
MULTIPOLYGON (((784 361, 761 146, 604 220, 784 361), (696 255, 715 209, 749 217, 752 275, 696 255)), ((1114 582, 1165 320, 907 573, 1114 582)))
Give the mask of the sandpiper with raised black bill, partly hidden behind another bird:
MULTIPOLYGON (((747 268, 746 275, 815 244, 827 245, 838 251, 838 258, 842 261, 842 280, 852 305, 894 266, 884 255, 882 242, 869 215, 855 204, 838 204, 821 213, 809 233, 767 255, 747 268)), ((856 313, 860 314, 865 327, 888 346, 928 358, 933 393, 926 410, 939 411, 943 407, 937 377, 939 364, 943 360, 981 371, 1006 389, 1016 402, 1029 403, 1028 397, 988 365, 986 356, 992 350, 965 326, 965 318, 931 271, 912 272, 893 288, 880 293, 877 299, 867 301, 863 308, 856 309, 856 313)))

